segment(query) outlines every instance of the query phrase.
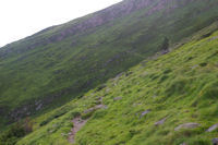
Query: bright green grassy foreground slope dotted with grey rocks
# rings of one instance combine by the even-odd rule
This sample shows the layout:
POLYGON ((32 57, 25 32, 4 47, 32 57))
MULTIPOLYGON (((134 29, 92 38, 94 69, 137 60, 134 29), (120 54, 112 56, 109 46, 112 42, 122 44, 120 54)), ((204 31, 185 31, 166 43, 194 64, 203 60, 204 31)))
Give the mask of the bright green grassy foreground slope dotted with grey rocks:
POLYGON ((17 145, 70 144, 78 117, 87 123, 76 145, 210 145, 218 135, 218 32, 208 29, 217 26, 34 119, 34 132, 17 145))

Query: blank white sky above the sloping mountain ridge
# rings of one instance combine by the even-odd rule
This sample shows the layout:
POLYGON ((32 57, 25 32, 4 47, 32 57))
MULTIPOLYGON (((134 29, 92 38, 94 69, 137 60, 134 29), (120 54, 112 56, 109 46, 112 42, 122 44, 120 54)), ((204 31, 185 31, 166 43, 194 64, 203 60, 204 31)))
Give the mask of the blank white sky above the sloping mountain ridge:
POLYGON ((0 47, 122 0, 0 0, 0 47))

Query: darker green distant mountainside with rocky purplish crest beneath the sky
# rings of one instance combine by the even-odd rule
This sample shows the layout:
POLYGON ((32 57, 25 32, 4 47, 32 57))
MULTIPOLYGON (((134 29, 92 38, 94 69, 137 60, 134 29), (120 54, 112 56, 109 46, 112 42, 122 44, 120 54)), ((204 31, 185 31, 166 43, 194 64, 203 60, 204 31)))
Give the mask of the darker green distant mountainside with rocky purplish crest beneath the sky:
POLYGON ((61 106, 218 17, 217 0, 124 0, 0 49, 0 120, 61 106))

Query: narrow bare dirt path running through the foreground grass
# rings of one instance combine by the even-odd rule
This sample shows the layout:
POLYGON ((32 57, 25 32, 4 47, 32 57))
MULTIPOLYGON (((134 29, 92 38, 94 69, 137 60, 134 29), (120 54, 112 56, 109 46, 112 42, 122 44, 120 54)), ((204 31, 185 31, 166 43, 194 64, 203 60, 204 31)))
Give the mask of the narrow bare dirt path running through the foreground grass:
MULTIPOLYGON (((102 97, 100 97, 98 101, 100 102, 99 105, 96 105, 95 107, 92 107, 84 112, 88 113, 89 111, 94 111, 94 110, 104 108, 105 105, 102 105, 102 97)), ((83 120, 81 117, 76 117, 72 120, 73 128, 71 129, 71 132, 69 134, 69 142, 71 144, 73 144, 75 142, 75 134, 86 124, 87 121, 88 121, 88 119, 83 120)))

